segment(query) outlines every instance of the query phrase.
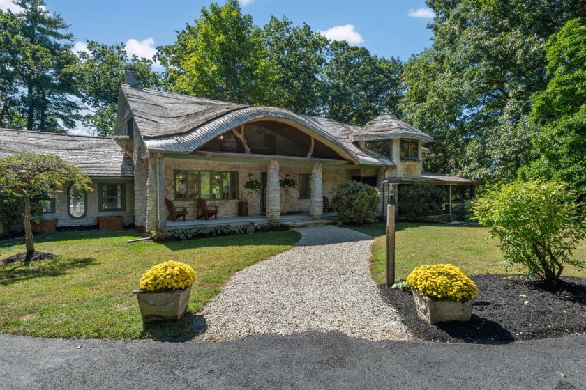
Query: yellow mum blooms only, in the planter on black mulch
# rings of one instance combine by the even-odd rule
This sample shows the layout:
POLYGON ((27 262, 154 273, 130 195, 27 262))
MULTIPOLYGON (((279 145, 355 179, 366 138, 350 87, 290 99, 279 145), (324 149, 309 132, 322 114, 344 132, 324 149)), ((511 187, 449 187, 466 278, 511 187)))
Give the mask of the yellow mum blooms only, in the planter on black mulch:
POLYGON ((451 264, 421 265, 407 276, 407 287, 425 297, 464 302, 478 294, 476 284, 451 264))

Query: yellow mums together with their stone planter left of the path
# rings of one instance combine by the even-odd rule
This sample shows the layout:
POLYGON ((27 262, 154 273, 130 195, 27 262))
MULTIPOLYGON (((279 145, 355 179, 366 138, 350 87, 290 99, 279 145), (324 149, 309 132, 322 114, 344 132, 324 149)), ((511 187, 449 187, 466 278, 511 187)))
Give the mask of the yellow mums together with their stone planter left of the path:
POLYGON ((189 303, 195 271, 179 261, 153 265, 140 278, 140 290, 134 290, 143 322, 176 321, 189 303))

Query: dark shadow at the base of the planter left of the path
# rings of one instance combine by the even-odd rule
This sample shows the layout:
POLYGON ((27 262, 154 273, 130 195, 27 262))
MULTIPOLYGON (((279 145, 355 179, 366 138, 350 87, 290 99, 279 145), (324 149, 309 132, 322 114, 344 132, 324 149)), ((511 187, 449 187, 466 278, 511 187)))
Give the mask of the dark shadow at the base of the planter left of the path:
POLYGON ((207 331, 206 318, 188 311, 175 322, 145 322, 142 324, 142 338, 152 338, 164 343, 183 343, 207 331))

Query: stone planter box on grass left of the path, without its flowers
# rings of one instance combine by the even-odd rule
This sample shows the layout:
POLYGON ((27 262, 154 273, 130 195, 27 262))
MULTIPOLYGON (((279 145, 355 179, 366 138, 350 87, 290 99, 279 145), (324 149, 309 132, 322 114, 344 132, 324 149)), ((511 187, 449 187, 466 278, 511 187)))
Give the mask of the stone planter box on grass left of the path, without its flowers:
POLYGON ((191 286, 185 290, 166 292, 133 292, 138 300, 142 322, 176 321, 183 317, 187 309, 191 286))

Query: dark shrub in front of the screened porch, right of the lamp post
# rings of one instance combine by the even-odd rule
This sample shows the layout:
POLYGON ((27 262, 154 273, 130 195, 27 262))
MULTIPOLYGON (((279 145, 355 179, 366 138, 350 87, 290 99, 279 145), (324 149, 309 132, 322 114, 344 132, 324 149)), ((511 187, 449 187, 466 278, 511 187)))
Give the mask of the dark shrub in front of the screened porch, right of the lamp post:
POLYGON ((397 213, 418 221, 428 215, 440 214, 446 201, 446 191, 436 185, 400 185, 398 190, 397 213))

